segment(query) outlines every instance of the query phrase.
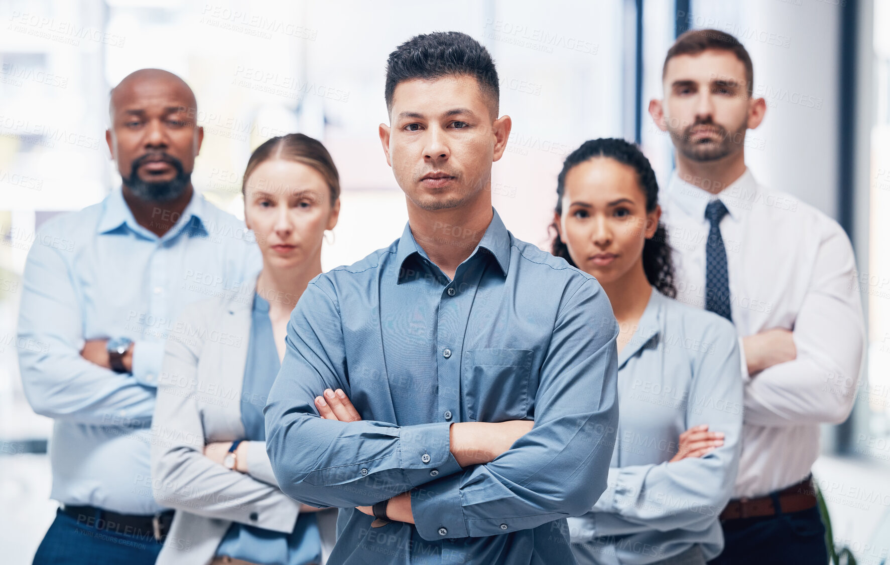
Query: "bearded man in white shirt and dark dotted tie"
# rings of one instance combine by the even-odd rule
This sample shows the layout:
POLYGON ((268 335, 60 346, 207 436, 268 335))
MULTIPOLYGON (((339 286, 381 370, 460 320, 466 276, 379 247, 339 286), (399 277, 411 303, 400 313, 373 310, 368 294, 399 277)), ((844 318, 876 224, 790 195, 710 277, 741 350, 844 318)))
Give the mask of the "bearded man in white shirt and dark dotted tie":
POLYGON ((712 563, 828 562, 810 467, 820 424, 852 410, 862 364, 862 304, 844 230, 812 206, 757 184, 745 134, 764 119, 748 52, 715 29, 667 52, 664 99, 650 114, 676 147, 662 198, 677 299, 739 331, 743 448, 726 545, 712 563))

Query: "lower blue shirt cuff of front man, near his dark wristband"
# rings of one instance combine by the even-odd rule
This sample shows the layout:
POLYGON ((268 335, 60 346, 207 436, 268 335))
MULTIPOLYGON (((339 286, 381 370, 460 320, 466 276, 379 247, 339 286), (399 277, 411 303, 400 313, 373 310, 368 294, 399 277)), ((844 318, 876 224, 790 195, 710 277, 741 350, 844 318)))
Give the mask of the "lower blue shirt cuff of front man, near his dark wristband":
POLYGON ((464 506, 460 501, 462 474, 452 474, 418 489, 411 489, 414 527, 426 541, 467 537, 464 506))

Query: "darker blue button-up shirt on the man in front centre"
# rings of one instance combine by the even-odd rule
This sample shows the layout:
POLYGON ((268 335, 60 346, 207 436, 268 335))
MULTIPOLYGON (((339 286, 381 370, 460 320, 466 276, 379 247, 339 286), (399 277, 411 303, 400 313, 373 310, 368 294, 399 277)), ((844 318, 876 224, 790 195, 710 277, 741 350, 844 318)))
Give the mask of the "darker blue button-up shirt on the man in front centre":
POLYGON ((280 488, 344 508, 330 563, 572 563, 566 516, 603 492, 618 425, 618 326, 596 280, 517 240, 495 211, 454 279, 409 225, 312 280, 265 409, 280 488), (319 418, 343 388, 363 421, 319 418), (534 419, 486 465, 457 465, 453 422, 534 419), (411 491, 416 525, 353 506, 411 491))

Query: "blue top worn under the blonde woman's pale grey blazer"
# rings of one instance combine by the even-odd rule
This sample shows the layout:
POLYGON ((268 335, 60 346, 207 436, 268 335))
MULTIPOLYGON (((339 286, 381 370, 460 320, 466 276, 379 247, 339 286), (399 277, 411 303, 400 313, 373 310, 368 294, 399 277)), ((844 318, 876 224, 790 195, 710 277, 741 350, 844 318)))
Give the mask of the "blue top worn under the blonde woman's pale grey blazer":
MULTIPOLYGON (((246 440, 264 442, 263 406, 252 401, 269 394, 280 363, 269 319, 269 302, 259 294, 254 297, 252 315, 241 394, 241 421, 247 434, 246 440)), ((315 513, 299 514, 294 531, 289 534, 232 522, 216 554, 259 565, 318 563, 321 559, 321 539, 315 513)))

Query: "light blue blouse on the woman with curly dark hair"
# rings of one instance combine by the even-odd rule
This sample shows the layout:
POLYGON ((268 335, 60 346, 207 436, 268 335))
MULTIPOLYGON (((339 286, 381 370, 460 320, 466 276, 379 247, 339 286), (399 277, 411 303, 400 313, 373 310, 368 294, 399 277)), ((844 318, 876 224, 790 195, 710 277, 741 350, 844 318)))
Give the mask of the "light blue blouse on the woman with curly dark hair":
POLYGON ((739 343, 731 322, 652 289, 619 354, 621 418, 609 489, 568 521, 579 563, 657 563, 699 545, 723 549, 718 520, 739 466, 743 413, 739 343), (668 461, 680 434, 708 424, 724 445, 668 461))

